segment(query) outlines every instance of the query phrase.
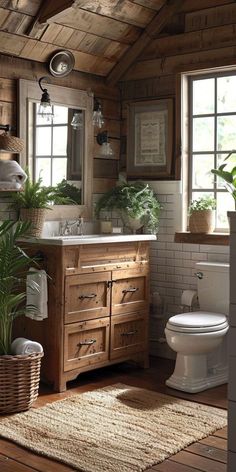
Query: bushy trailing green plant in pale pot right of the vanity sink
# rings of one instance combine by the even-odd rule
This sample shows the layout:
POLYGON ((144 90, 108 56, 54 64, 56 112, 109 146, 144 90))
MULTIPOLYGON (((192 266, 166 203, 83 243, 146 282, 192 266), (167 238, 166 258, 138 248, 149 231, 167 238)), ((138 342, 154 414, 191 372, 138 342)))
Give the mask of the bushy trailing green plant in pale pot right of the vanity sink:
POLYGON ((158 230, 161 204, 148 184, 141 181, 128 183, 120 178, 116 187, 108 190, 98 200, 95 215, 102 210, 118 210, 124 224, 132 230, 145 226, 146 230, 158 230))

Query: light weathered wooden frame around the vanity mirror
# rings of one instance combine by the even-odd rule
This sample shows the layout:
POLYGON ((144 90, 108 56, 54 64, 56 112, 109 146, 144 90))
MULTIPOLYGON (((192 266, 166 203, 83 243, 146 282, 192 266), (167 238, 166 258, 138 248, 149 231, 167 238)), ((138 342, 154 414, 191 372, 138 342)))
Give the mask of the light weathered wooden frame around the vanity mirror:
MULTIPOLYGON (((54 205, 47 219, 76 218, 92 215, 92 182, 93 182, 93 94, 83 90, 47 84, 53 105, 64 105, 78 108, 85 112, 85 142, 83 161, 83 205, 54 205)), ((20 165, 29 166, 30 136, 28 109, 29 102, 39 102, 41 91, 38 82, 19 79, 18 81, 18 136, 25 141, 25 148, 19 157, 20 165)))

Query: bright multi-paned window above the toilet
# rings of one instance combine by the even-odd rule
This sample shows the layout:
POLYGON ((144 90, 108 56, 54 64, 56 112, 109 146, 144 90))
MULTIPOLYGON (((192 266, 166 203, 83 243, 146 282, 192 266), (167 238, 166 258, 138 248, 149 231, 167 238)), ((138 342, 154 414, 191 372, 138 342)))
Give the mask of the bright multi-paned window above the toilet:
POLYGON ((228 229, 234 201, 211 169, 236 149, 236 73, 189 77, 189 200, 216 199, 216 231, 228 229))

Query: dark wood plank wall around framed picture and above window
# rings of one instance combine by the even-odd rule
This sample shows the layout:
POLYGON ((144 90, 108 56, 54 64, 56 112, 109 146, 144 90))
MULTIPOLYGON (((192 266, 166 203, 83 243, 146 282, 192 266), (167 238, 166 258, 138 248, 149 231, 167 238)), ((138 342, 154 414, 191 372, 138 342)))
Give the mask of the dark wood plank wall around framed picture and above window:
MULTIPOLYGON (((219 2, 218 2, 219 3, 219 2)), ((126 106, 137 100, 173 98, 175 130, 179 134, 180 106, 178 74, 191 70, 236 66, 236 4, 186 12, 184 32, 154 39, 139 60, 127 71, 121 83, 122 126, 121 149, 127 136, 126 106)), ((227 2, 225 2, 227 3, 227 2)), ((197 4, 197 0, 196 0, 197 4)), ((191 1, 193 7, 193 1, 191 1)), ((180 145, 173 152, 171 179, 180 179, 180 145)), ((125 155, 121 155, 122 167, 125 155)))

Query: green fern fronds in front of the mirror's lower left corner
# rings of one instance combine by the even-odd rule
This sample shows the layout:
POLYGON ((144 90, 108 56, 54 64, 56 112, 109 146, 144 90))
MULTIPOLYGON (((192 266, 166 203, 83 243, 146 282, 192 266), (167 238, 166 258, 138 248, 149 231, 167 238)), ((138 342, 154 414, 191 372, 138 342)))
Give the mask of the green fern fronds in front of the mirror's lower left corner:
POLYGON ((62 196, 55 187, 42 186, 42 177, 33 182, 27 169, 26 173, 28 178, 23 190, 11 194, 12 208, 16 210, 21 208, 50 208, 50 203, 58 205, 71 203, 71 200, 62 196))

